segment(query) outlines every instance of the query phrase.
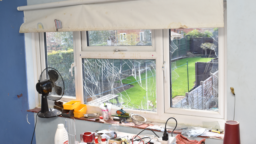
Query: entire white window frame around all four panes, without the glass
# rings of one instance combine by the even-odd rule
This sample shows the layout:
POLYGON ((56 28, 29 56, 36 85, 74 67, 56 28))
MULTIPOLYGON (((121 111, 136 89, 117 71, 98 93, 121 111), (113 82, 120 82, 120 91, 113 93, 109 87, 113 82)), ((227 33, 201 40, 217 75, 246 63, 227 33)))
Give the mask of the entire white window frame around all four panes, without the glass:
MULTIPOLYGON (((225 17, 224 12, 224 17, 225 17)), ((224 19, 226 27, 226 19, 224 19)), ((224 122, 227 120, 227 89, 226 89, 226 29, 219 28, 219 112, 181 109, 170 107, 170 75, 169 72, 169 31, 152 30, 152 46, 129 46, 127 51, 114 52, 114 48, 125 46, 87 46, 86 32, 73 32, 73 49, 74 49, 74 67, 76 98, 63 97, 62 101, 79 100, 84 103, 83 95, 83 74, 82 58, 110 58, 110 59, 155 59, 156 60, 156 79, 157 79, 157 112, 125 109, 128 113, 137 113, 147 118, 149 121, 164 122, 169 117, 175 117, 178 123, 189 125, 202 125, 203 121, 218 121, 221 128, 224 128, 224 122), (106 47, 107 50, 106 50, 106 47), (148 47, 147 50, 145 47, 148 47), (153 48, 154 50, 152 51, 153 48), (95 50, 96 49, 96 50, 95 50), (102 51, 100 51, 100 49, 102 51), (138 49, 141 51, 138 51, 138 49), (153 56, 152 56, 153 55, 153 56), (162 70, 163 62, 166 62, 167 81, 164 81, 162 70)), ((27 46, 27 44, 26 44, 27 46)), ((45 68, 45 51, 43 33, 32 33, 34 79, 37 83, 37 77, 45 68), (40 47, 40 48, 39 48, 40 47), (35 67, 37 64, 37 67, 35 67)), ((35 88, 35 87, 34 87, 35 88)), ((36 106, 41 104, 41 96, 36 93, 36 106), (39 101, 39 102, 38 102, 39 101), (39 103, 39 104, 38 104, 39 103)), ((53 107, 54 101, 48 101, 49 107, 53 107)), ((113 107, 111 112, 115 113, 120 108, 113 107)), ((87 112, 101 112, 99 106, 87 105, 87 112)))

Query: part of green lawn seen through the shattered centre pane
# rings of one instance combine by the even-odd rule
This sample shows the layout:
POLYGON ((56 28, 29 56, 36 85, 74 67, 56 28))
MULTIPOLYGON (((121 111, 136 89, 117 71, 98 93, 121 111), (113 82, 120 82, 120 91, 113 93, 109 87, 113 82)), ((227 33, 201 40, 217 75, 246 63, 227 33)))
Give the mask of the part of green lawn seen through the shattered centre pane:
MULTIPOLYGON (((153 74, 148 71, 147 72, 147 83, 148 83, 148 92, 146 91, 146 72, 141 74, 141 85, 138 83, 139 77, 137 75, 137 80, 133 76, 127 77, 126 79, 129 80, 122 80, 123 85, 131 83, 134 87, 129 88, 126 91, 123 91, 121 93, 117 93, 117 95, 122 95, 123 102, 125 102, 124 105, 128 104, 129 107, 138 108, 143 107, 146 108, 145 105, 147 105, 147 93, 148 93, 148 100, 151 100, 153 102, 153 105, 156 106, 156 76, 155 71, 152 71, 153 74), (152 76, 153 75, 153 76, 152 76), (132 81, 130 81, 132 80, 132 81), (138 82, 136 82, 138 81, 138 82), (133 82, 133 83, 132 83, 133 82), (153 85, 153 86, 152 86, 153 85), (130 102, 129 102, 130 101, 130 102), (136 106, 138 105, 138 106, 136 106)), ((116 100, 111 100, 111 102, 116 103, 116 100)), ((119 101, 120 102, 120 101, 119 101)), ((152 109, 152 107, 148 107, 149 109, 152 109)))

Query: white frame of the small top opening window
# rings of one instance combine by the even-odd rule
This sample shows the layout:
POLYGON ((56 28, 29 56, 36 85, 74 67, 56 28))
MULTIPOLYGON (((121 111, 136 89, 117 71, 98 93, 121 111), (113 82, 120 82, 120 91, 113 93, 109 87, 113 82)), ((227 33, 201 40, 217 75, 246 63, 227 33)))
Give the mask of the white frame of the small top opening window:
MULTIPOLYGON (((152 31, 151 34, 155 35, 155 30, 151 30, 151 31, 152 31)), ((82 31, 81 36, 82 36, 82 39, 84 39, 84 36, 86 36, 86 31, 82 31)), ((113 52, 114 49, 117 47, 127 48, 127 50, 125 50, 125 51, 155 51, 155 49, 156 49, 155 41, 156 41, 155 38, 152 37, 152 40, 151 40, 152 45, 151 46, 87 46, 87 42, 86 42, 86 45, 83 45, 83 47, 82 47, 82 51, 99 51, 99 52, 111 51, 111 52, 113 52)))

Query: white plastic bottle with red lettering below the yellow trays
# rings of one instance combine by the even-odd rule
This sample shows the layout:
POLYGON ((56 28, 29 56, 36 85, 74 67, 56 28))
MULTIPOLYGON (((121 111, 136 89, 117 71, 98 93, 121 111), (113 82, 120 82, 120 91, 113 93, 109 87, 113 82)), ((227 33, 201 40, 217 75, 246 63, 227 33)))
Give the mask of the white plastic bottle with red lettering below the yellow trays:
POLYGON ((54 137, 54 144, 68 144, 68 132, 64 128, 64 124, 58 124, 54 137))

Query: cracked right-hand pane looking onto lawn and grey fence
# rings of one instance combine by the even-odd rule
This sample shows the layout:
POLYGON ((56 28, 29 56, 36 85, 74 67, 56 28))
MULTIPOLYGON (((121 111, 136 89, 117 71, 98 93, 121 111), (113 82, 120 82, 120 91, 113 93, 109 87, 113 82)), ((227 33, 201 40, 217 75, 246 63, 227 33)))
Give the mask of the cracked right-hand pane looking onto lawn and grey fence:
POLYGON ((218 112, 218 28, 170 30, 172 107, 218 112))

